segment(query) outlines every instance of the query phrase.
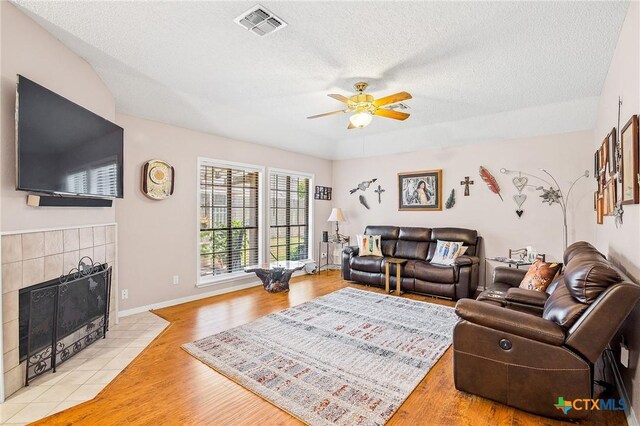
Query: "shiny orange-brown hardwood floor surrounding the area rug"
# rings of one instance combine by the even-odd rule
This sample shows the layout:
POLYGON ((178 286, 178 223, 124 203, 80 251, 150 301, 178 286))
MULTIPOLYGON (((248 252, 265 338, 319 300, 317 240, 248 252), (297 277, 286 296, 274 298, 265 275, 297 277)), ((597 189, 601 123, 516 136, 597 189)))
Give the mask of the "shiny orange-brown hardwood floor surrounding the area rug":
MULTIPOLYGON (((202 364, 180 345, 347 286, 366 289, 343 281, 337 272, 323 272, 319 276, 294 278, 288 294, 268 294, 261 287, 255 287, 157 310, 155 313, 171 325, 109 386, 94 400, 36 424, 299 425, 298 420, 202 364)), ((430 297, 406 297, 453 305, 430 297)), ((450 348, 388 424, 569 423, 534 416, 457 391, 453 385, 450 348)), ((598 411, 581 424, 623 425, 626 420, 620 411, 598 411)))

